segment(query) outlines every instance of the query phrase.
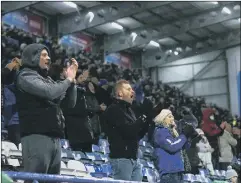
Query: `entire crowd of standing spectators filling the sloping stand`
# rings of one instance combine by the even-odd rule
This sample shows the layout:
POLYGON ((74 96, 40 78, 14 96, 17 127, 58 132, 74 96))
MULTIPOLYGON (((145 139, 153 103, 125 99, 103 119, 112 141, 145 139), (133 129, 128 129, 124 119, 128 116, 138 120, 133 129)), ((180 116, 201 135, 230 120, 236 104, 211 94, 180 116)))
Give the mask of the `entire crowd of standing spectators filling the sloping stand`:
POLYGON ((91 152, 104 138, 113 177, 141 181, 136 160, 145 136, 161 182, 180 182, 201 167, 211 175, 229 169, 226 178, 237 182, 240 117, 227 109, 153 83, 141 69, 105 63, 102 54, 65 50, 56 37, 5 25, 1 37, 2 128, 5 140, 22 144, 25 171, 59 174, 59 139, 73 151, 91 152))

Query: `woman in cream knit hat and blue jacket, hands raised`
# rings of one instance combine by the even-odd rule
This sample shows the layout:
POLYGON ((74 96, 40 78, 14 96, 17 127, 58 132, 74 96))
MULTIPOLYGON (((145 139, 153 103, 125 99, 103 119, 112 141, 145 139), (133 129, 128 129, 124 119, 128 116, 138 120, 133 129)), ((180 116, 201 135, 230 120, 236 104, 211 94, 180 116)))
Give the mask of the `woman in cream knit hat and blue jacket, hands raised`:
POLYGON ((191 125, 185 125, 181 135, 175 129, 172 112, 163 109, 155 118, 156 128, 153 134, 155 166, 160 174, 161 183, 182 182, 184 167, 183 149, 187 139, 196 133, 191 125))

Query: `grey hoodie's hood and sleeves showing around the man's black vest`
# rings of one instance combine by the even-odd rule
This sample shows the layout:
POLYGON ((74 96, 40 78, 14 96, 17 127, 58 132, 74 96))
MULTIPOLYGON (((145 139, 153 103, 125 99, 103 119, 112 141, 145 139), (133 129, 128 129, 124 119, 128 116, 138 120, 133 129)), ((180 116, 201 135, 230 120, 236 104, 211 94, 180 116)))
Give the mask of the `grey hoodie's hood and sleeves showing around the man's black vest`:
MULTIPOLYGON (((40 54, 43 49, 49 50, 42 44, 30 44, 25 47, 22 54, 23 69, 19 72, 17 77, 17 87, 32 95, 37 95, 48 100, 54 100, 61 97, 67 89, 71 86, 69 80, 65 79, 61 82, 54 82, 50 77, 43 77, 41 69, 39 68, 40 54)), ((50 54, 49 54, 50 55, 50 54)), ((76 102, 76 87, 72 85, 72 90, 69 99, 70 107, 75 106, 76 102)))

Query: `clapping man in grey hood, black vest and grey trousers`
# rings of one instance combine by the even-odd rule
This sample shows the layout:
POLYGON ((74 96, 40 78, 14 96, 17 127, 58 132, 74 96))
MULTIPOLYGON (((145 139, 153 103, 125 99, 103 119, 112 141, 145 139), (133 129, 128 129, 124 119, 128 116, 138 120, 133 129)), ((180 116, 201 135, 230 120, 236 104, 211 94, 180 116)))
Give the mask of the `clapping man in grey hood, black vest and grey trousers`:
POLYGON ((74 84, 78 64, 75 59, 65 70, 65 80, 55 82, 47 76, 50 52, 41 44, 30 44, 22 54, 17 74, 16 104, 20 121, 24 171, 59 174, 60 139, 64 138, 61 106, 76 103, 74 84))

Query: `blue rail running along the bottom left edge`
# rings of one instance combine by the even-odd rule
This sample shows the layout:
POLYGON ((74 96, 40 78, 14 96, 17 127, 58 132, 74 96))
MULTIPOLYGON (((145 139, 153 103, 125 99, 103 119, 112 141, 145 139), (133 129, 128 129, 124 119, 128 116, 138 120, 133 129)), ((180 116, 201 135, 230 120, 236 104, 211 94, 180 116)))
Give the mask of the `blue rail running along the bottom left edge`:
MULTIPOLYGON (((32 180, 38 182, 68 182, 68 183, 138 183, 133 181, 124 180, 104 180, 96 178, 84 178, 84 177, 74 177, 67 175, 50 175, 50 174, 40 174, 40 173, 26 173, 26 172, 13 172, 13 171, 3 171, 14 180, 32 180)), ((141 182, 139 182, 141 183, 141 182)))

